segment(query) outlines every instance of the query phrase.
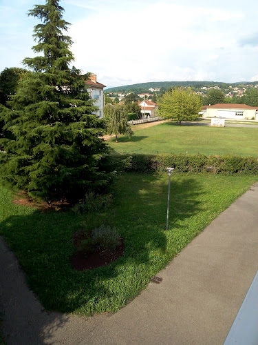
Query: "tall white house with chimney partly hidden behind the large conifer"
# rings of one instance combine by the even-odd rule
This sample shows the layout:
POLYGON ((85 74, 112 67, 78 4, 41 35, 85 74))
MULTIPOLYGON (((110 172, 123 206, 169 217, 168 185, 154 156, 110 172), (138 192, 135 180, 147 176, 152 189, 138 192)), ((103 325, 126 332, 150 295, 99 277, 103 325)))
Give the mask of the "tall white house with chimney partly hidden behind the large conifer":
POLYGON ((98 110, 96 111, 96 115, 98 117, 103 117, 103 106, 104 106, 104 92, 103 89, 105 88, 105 85, 98 83, 97 76, 92 74, 89 77, 89 80, 86 81, 86 84, 89 88, 87 88, 87 91, 89 92, 89 96, 94 99, 94 105, 98 107, 98 110))

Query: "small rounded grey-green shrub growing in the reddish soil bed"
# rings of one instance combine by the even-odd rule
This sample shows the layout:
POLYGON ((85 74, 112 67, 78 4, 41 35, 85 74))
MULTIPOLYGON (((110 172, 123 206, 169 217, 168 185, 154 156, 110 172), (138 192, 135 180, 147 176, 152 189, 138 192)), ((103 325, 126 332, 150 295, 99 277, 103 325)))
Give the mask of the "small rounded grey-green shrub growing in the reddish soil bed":
POLYGON ((102 225, 92 231, 92 242, 103 249, 115 249, 120 244, 120 235, 116 228, 102 225))

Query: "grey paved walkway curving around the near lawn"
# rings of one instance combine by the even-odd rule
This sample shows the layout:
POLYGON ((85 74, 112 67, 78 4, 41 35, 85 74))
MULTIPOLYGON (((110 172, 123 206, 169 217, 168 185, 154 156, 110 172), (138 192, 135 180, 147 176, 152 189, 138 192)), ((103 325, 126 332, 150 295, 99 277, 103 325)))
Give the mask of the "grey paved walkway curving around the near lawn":
MULTIPOLYGON (((118 313, 46 313, 1 240, 7 344, 220 345, 258 269, 258 183, 239 197, 118 313)), ((244 344, 241 344, 244 345, 244 344)))

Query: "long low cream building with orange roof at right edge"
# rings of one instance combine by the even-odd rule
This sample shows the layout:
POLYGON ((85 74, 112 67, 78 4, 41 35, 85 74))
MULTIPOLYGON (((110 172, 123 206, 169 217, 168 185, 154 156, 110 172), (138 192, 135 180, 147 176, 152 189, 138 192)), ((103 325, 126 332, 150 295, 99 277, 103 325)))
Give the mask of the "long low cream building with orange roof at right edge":
POLYGON ((258 106, 246 104, 218 103, 214 106, 204 106, 202 117, 225 117, 226 119, 256 119, 258 120, 258 106))

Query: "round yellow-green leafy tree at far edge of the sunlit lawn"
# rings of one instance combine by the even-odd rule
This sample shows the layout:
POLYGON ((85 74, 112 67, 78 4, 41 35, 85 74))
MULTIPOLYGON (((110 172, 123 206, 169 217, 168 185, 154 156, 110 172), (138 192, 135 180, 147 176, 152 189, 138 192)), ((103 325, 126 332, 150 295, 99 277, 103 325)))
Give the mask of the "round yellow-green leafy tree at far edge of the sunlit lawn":
POLYGON ((164 119, 181 121, 194 121, 199 118, 198 112, 202 110, 202 103, 190 88, 175 88, 166 92, 158 101, 159 114, 164 119))

